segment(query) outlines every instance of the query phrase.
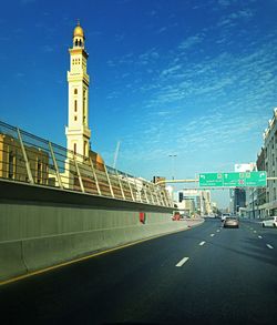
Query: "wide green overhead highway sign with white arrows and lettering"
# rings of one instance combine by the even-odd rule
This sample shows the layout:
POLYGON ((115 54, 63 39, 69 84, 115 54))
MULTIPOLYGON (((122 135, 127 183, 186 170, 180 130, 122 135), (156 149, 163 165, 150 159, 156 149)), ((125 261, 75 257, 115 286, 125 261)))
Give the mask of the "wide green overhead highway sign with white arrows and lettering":
POLYGON ((199 186, 203 187, 258 187, 267 185, 267 174, 261 172, 244 173, 201 173, 199 186))

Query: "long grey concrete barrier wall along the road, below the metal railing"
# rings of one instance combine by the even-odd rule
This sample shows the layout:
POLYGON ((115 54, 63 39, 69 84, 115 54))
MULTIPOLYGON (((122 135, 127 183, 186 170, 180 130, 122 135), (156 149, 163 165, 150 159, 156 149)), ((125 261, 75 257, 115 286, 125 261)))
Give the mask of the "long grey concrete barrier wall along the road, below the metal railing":
POLYGON ((0 281, 187 227, 186 222, 171 220, 172 209, 4 183, 0 182, 0 281), (146 215, 144 224, 140 212, 146 215))

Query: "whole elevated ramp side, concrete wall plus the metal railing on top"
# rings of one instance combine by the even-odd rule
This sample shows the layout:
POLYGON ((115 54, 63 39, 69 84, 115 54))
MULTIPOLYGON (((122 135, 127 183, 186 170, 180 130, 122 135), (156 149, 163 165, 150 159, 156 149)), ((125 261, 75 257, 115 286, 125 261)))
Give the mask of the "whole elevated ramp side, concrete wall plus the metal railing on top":
POLYGON ((0 122, 0 284, 183 231, 165 185, 0 122))

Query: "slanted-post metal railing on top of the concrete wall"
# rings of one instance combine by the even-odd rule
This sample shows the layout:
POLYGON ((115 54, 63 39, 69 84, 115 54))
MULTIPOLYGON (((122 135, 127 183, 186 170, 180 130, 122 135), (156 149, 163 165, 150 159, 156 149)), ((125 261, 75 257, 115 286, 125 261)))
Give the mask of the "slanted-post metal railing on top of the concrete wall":
POLYGON ((0 121, 0 179, 161 206, 173 206, 164 186, 106 166, 0 121))

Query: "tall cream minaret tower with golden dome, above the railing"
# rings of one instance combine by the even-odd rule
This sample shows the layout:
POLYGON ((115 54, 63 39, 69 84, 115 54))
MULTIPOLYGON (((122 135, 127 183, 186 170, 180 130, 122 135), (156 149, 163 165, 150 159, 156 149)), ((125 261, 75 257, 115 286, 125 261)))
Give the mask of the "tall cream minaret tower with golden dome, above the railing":
POLYGON ((69 126, 65 128, 68 149, 74 153, 89 156, 89 84, 86 60, 89 54, 84 49, 84 32, 78 22, 73 32, 73 47, 70 52, 69 82, 69 126))

